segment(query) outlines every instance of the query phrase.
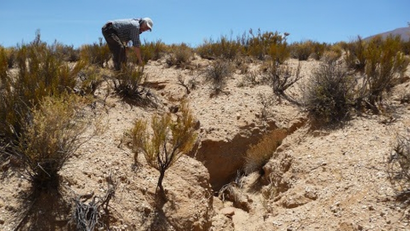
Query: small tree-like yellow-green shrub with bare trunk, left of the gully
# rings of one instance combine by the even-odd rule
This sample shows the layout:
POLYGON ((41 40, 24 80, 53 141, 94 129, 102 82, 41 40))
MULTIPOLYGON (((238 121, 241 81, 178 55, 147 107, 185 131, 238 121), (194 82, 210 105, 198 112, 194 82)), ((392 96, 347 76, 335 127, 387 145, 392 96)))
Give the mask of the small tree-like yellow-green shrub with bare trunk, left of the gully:
POLYGON ((138 153, 143 153, 148 164, 160 171, 157 189, 161 192, 164 192, 162 182, 165 171, 192 149, 197 137, 196 122, 188 104, 182 102, 179 111, 176 120, 170 113, 154 115, 151 129, 148 129, 146 121, 137 120, 128 132, 135 163, 138 163, 138 153))

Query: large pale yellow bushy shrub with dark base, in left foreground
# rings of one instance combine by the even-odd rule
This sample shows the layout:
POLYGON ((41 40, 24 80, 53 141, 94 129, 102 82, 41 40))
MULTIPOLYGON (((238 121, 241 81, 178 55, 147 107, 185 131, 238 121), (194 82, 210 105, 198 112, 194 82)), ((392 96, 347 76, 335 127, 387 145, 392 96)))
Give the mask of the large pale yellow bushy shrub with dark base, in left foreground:
POLYGON ((21 173, 34 190, 57 189, 60 169, 74 152, 95 133, 84 135, 91 125, 84 116, 81 98, 64 95, 45 97, 23 122, 18 140, 7 148, 21 161, 21 173))

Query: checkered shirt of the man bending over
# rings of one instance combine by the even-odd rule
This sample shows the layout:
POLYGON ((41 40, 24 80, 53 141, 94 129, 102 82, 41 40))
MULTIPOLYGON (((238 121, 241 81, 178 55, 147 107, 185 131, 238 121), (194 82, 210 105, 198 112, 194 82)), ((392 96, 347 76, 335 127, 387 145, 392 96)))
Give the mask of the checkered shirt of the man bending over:
POLYGON ((140 21, 141 19, 122 19, 111 21, 113 28, 117 31, 121 42, 132 41, 132 45, 141 46, 140 41, 140 21))

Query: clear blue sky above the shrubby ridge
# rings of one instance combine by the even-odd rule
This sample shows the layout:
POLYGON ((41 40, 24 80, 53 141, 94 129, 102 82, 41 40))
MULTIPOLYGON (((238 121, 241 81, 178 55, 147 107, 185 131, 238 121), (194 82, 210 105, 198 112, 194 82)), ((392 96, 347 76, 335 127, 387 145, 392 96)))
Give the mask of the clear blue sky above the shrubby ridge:
POLYGON ((149 17, 146 41, 203 44, 249 29, 288 32, 289 42, 351 41, 408 26, 410 0, 2 0, 0 45, 98 42, 108 20, 149 17))

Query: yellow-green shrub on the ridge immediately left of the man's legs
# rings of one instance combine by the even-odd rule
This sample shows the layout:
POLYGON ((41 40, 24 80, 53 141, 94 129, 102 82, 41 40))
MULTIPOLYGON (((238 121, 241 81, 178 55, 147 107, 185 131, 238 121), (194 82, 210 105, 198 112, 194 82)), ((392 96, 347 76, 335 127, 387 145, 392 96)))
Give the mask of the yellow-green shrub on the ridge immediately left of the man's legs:
POLYGON ((99 41, 99 43, 94 42, 92 45, 83 45, 80 49, 80 59, 86 63, 104 67, 104 64, 108 65, 111 52, 107 43, 102 42, 102 38, 99 38, 99 41))

